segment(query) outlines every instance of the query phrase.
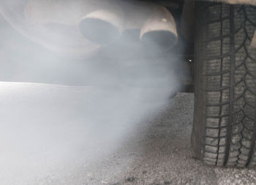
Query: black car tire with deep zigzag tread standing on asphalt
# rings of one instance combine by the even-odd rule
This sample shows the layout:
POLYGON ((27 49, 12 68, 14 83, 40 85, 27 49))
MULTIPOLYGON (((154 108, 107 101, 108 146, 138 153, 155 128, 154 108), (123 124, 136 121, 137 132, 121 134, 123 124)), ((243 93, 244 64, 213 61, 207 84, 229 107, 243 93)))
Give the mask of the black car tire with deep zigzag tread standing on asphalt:
POLYGON ((192 147, 208 165, 256 166, 256 7, 197 2, 192 147))

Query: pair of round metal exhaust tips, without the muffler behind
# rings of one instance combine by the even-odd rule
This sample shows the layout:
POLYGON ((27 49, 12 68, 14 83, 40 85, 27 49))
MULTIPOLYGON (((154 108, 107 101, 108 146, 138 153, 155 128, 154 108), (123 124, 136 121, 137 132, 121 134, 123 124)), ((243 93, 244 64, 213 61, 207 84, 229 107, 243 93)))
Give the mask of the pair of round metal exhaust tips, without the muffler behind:
MULTIPOLYGON (((132 12, 129 12, 132 13, 132 12)), ((79 29, 86 39, 107 45, 121 37, 124 29, 140 29, 140 42, 146 48, 168 49, 176 45, 178 34, 176 23, 165 7, 156 5, 147 16, 138 15, 137 25, 129 26, 129 15, 116 10, 97 10, 80 20, 79 29)))

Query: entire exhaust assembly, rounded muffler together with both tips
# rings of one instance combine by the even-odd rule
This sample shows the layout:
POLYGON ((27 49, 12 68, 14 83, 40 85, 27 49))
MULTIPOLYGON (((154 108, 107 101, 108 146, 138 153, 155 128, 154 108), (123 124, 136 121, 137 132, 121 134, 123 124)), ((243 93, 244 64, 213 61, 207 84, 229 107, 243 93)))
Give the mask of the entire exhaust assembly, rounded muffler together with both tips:
POLYGON ((143 1, 27 0, 23 16, 27 28, 36 30, 33 35, 26 31, 24 34, 50 50, 54 48, 54 52, 58 48, 58 53, 69 53, 74 58, 91 56, 102 45, 120 37, 124 29, 139 29, 146 49, 155 50, 157 45, 159 50, 165 50, 178 38, 170 12, 143 1))

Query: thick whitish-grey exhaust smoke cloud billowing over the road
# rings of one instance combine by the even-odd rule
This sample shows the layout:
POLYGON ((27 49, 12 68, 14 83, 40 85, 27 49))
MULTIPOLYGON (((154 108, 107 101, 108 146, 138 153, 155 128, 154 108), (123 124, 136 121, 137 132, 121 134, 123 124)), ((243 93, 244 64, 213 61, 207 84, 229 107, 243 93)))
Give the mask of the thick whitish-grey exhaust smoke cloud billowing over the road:
MULTIPOLYGON (((101 23, 99 32, 86 33, 93 19, 81 20, 78 29, 94 42, 116 37, 102 37, 102 30, 115 31, 101 23)), ((0 48, 0 184, 83 184, 63 179, 110 156, 129 140, 140 121, 157 113, 181 88, 184 67, 177 53, 158 56, 162 52, 154 42, 159 39, 153 39, 154 57, 141 49, 139 57, 116 58, 127 53, 118 42, 129 45, 129 53, 145 48, 139 34, 134 48, 135 42, 119 30, 121 39, 112 42, 118 47, 107 52, 111 58, 75 60, 56 56, 3 22, 0 31, 8 34, 0 48)), ((108 51, 108 46, 102 50, 108 51)), ((58 53, 65 56, 62 52, 58 53)))

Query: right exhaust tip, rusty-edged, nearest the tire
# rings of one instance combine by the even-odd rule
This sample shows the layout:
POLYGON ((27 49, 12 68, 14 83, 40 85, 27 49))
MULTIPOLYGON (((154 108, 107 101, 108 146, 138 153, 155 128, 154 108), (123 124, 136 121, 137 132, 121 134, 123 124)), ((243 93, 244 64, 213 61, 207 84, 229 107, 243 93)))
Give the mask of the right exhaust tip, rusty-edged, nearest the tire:
POLYGON ((140 29, 140 40, 152 49, 172 48, 178 40, 175 20, 165 7, 154 5, 153 8, 151 17, 140 29))

